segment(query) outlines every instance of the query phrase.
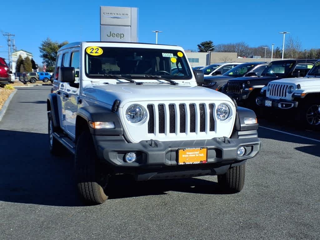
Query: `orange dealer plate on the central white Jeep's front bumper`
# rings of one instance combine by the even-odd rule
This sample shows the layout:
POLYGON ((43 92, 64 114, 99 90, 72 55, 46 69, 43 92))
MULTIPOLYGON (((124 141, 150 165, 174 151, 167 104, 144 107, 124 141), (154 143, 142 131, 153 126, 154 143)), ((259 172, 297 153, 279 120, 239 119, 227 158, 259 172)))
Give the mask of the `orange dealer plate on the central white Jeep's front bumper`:
POLYGON ((178 164, 202 164, 207 162, 207 148, 181 148, 178 164))

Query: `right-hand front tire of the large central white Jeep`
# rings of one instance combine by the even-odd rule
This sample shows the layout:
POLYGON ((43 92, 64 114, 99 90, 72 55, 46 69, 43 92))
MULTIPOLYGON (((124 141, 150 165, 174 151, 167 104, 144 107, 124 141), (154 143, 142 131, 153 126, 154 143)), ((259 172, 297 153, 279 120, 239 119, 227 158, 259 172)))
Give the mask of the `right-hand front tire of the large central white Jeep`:
POLYGON ((218 175, 218 184, 228 193, 241 192, 244 186, 245 164, 231 167, 225 174, 218 175))

